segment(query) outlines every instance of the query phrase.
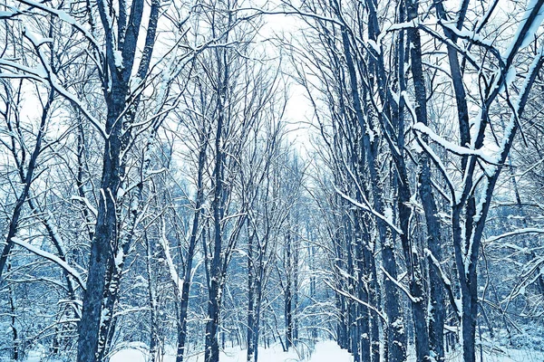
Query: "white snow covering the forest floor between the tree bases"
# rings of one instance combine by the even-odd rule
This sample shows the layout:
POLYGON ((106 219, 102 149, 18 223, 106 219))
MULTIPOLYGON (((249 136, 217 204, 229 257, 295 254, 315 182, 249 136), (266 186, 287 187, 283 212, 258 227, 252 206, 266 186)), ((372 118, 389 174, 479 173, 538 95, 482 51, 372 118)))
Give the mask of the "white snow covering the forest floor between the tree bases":
MULTIPOLYGON (((291 350, 283 352, 280 346, 259 348, 259 362, 352 362, 353 357, 345 349, 341 349, 333 341, 322 341, 310 356, 302 356, 302 352, 291 350)), ((450 362, 461 362, 460 351, 448 357, 450 362)), ((173 362, 174 357, 165 356, 163 362, 173 362)), ((414 358, 411 360, 415 360, 414 358)), ((478 354, 480 360, 480 354, 478 354)), ((189 362, 203 362, 204 355, 199 354, 189 358, 189 362)), ((221 352, 220 362, 246 362, 246 351, 239 348, 227 348, 221 352)), ((510 349, 508 351, 484 351, 484 362, 543 362, 544 353, 530 350, 510 349)), ((111 362, 147 362, 145 353, 137 349, 123 349, 113 355, 111 362)))

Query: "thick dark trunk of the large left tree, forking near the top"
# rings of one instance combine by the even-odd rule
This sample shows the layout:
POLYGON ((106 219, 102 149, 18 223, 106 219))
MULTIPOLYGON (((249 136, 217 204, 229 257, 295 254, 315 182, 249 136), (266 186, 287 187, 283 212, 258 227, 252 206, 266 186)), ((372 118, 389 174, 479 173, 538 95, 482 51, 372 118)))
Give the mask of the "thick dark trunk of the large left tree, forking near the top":
MULTIPOLYGON (((117 193, 124 176, 125 164, 121 157, 126 155, 126 148, 131 143, 131 124, 136 117, 135 110, 138 107, 139 97, 133 100, 131 109, 125 112, 126 100, 129 96, 129 84, 131 83, 132 68, 136 59, 137 43, 141 28, 141 17, 144 1, 134 0, 131 3, 129 16, 128 9, 120 6, 120 19, 128 19, 126 24, 119 24, 119 39, 114 39, 111 24, 111 8, 102 0, 97 2, 98 12, 102 26, 106 34, 106 62, 107 77, 104 77, 103 86, 107 104, 107 118, 105 124, 104 152, 102 164, 101 188, 99 190, 98 215, 95 232, 91 242, 91 257, 89 259, 89 272, 87 289, 83 295, 82 319, 79 324, 77 362, 97 362, 99 359, 100 330, 102 325, 112 323, 112 318, 102 320, 102 300, 108 297, 105 290, 107 272, 115 270, 113 252, 119 252, 117 245, 117 193), (126 27, 124 26, 126 25, 126 27), (117 52, 121 51, 121 66, 115 62, 117 52), (108 86, 111 84, 111 87, 108 86)), ((123 5, 126 5, 123 3, 123 5)), ((151 2, 151 14, 146 32, 140 66, 137 71, 138 78, 144 80, 148 74, 151 62, 151 53, 155 43, 155 32, 159 17, 160 2, 151 2)), ((121 271, 115 271, 121 273, 121 271)), ((110 275, 113 275, 111 273, 110 275)), ((120 275, 121 278, 121 275, 120 275)), ((113 287, 117 288, 118 285, 113 287)), ((113 294, 112 306, 114 306, 117 291, 113 294)), ((112 310, 109 310, 112 311, 112 310)), ((112 336, 112 334, 110 334, 112 336)))

